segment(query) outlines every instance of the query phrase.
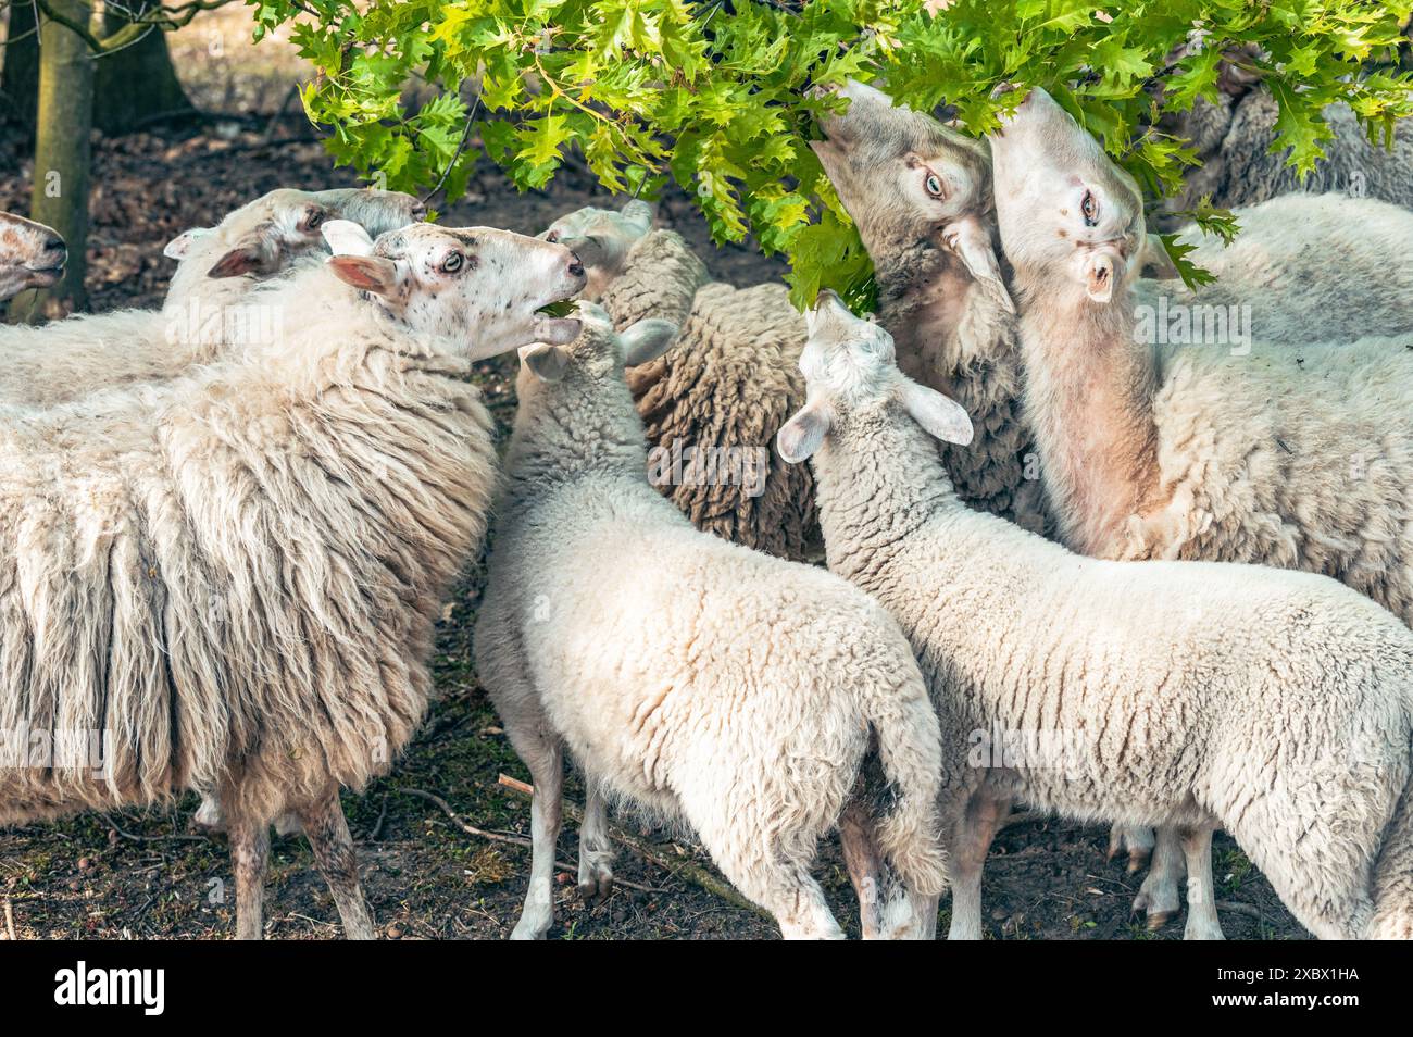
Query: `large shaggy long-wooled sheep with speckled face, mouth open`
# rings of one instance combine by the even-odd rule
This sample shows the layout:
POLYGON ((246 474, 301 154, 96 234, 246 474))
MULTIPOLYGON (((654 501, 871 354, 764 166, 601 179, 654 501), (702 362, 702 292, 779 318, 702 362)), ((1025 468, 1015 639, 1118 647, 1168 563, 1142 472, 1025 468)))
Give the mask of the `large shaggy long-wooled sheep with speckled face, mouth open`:
POLYGON ((256 290, 278 340, 0 422, 0 730, 86 756, 0 770, 0 824, 195 790, 259 938, 268 825, 301 821, 350 938, 373 928, 339 808, 431 691, 442 593, 496 479, 471 362, 578 322, 584 270, 504 230, 331 220, 328 267, 256 290))

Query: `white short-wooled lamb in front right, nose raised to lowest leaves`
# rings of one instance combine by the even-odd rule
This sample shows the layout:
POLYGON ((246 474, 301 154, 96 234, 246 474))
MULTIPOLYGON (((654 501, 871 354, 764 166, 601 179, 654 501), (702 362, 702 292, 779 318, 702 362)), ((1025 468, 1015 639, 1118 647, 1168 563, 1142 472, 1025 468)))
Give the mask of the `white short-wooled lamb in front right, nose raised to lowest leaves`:
POLYGON ((982 935, 1017 798, 1180 831, 1187 938, 1221 937, 1217 826, 1317 937, 1413 938, 1413 632, 1327 576, 1087 558, 965 507, 933 444, 965 445, 965 411, 836 298, 801 367, 780 454, 812 458, 829 569, 899 620, 940 712, 951 938, 982 935))

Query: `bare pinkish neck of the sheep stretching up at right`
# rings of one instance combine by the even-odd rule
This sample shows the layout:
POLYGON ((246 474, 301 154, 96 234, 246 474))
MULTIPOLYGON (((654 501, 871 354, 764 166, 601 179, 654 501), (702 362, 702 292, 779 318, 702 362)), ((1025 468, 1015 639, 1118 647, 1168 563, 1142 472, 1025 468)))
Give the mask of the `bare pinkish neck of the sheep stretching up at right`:
POLYGON ((1135 342, 1132 292, 1095 304, 1068 281, 1022 292, 1024 414, 1067 545, 1106 557, 1159 492, 1157 363, 1135 342))

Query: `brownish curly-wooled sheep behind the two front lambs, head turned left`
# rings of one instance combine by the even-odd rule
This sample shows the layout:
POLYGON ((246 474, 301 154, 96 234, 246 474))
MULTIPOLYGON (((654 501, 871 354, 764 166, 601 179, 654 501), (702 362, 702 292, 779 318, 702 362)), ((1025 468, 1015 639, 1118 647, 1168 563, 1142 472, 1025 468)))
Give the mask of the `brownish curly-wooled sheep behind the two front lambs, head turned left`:
POLYGON ((804 319, 781 284, 708 283, 680 235, 651 230, 651 211, 585 208, 541 235, 589 268, 585 298, 616 326, 671 321, 680 345, 629 372, 653 444, 653 483, 708 533, 790 559, 818 554, 810 473, 774 456, 770 439, 804 400, 796 369, 804 319))

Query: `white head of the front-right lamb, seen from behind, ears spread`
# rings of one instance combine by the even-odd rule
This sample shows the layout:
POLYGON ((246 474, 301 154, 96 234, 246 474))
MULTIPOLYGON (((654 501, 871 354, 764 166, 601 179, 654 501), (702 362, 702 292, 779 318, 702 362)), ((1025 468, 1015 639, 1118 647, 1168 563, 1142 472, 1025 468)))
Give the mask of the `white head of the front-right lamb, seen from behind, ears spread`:
POLYGON ((849 312, 831 291, 820 292, 805 315, 810 338, 800 355, 805 405, 776 435, 780 456, 798 463, 824 445, 829 431, 852 418, 882 415, 900 405, 942 442, 966 445, 966 411, 897 369, 893 336, 872 319, 849 312))

